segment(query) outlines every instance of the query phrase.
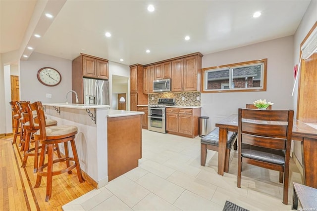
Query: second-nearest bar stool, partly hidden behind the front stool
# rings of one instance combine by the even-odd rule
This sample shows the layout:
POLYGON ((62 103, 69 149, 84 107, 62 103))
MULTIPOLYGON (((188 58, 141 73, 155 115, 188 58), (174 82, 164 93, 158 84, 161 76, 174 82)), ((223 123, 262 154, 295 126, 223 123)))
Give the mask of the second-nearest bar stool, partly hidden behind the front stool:
MULTIPOLYGON (((23 125, 23 129, 25 131, 25 146, 24 146, 24 157, 21 167, 25 167, 27 163, 27 159, 29 156, 34 156, 34 169, 33 173, 36 173, 38 171, 38 156, 39 156, 39 141, 34 141, 34 148, 30 149, 30 144, 32 142, 32 134, 34 134, 36 131, 40 129, 39 124, 35 123, 37 120, 36 109, 34 106, 30 106, 32 104, 28 104, 27 112, 22 113, 22 116, 24 119, 29 120, 23 125), (31 108, 32 107, 32 108, 31 108), (32 110, 34 109, 34 110, 32 110), (35 111, 35 113, 34 113, 35 111)), ((52 119, 45 119, 46 127, 49 126, 56 126, 57 121, 52 119)), ((54 151, 57 151, 58 158, 61 158, 60 151, 58 144, 55 144, 54 151)))

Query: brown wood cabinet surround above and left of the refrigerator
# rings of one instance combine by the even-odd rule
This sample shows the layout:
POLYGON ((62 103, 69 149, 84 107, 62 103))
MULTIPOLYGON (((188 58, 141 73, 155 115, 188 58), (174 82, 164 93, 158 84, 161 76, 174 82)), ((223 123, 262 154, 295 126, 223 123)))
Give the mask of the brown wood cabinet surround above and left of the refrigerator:
MULTIPOLYGON (((78 94, 79 103, 84 103, 83 78, 108 79, 108 60, 81 53, 71 63, 72 90, 78 94)), ((72 95, 75 102, 75 95, 72 95)))

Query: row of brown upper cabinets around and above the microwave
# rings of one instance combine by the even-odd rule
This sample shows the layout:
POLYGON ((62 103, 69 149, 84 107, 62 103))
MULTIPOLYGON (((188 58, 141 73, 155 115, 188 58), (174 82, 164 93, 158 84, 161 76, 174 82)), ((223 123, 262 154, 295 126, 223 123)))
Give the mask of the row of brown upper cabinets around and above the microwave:
POLYGON ((152 63, 144 67, 144 93, 153 93, 153 81, 171 79, 171 91, 200 91, 202 57, 200 52, 152 63))

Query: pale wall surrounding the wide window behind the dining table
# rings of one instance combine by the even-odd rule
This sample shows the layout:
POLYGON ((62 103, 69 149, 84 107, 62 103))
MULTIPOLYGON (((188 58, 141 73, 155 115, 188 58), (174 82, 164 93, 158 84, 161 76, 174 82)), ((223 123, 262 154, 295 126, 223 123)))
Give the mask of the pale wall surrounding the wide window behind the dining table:
POLYGON ((203 56, 202 68, 267 58, 266 91, 201 94, 202 116, 210 117, 210 130, 219 120, 237 114, 238 108, 257 99, 273 102, 274 109, 294 109, 293 40, 288 36, 203 56))

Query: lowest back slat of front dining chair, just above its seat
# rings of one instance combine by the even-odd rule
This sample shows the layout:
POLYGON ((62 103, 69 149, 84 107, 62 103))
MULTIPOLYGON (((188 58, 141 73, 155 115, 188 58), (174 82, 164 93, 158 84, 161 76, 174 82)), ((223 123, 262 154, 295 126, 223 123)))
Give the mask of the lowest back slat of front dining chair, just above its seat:
POLYGON ((258 147, 285 150, 286 139, 242 134, 243 143, 258 147))

